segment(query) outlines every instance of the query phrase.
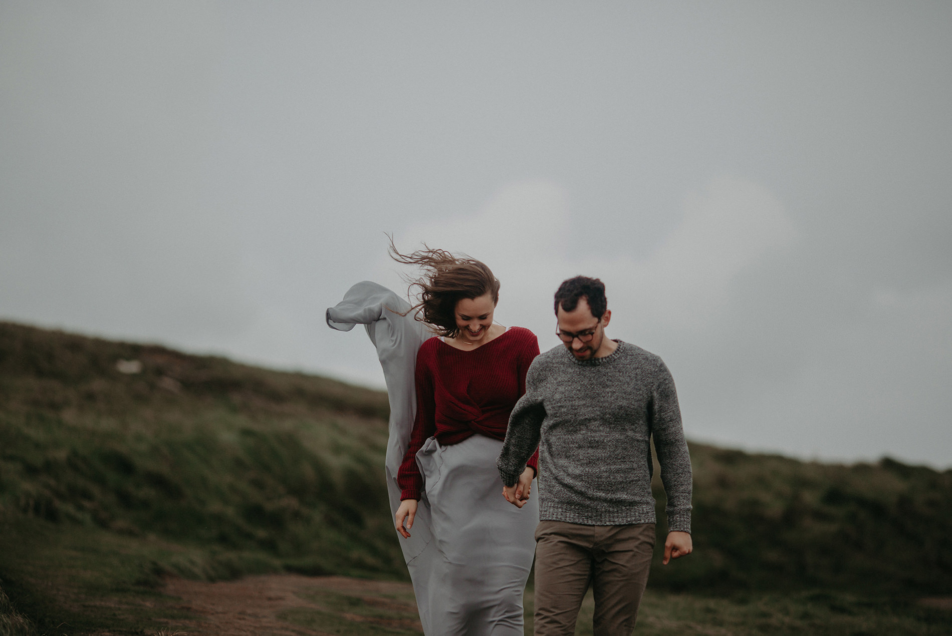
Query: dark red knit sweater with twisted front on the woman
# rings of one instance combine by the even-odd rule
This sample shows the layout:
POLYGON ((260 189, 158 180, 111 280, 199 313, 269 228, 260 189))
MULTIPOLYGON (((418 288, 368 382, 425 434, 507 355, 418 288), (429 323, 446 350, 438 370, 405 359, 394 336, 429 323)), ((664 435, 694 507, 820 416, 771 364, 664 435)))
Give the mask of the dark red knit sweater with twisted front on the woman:
MULTIPOLYGON (((417 412, 410 446, 397 473, 401 499, 420 499, 423 476, 416 454, 429 437, 448 446, 475 433, 502 440, 509 413, 526 392, 526 371, 539 341, 512 327, 482 347, 464 351, 430 338, 417 353, 417 412)), ((539 451, 526 462, 538 472, 539 451)), ((502 495, 500 495, 502 496, 502 495)))

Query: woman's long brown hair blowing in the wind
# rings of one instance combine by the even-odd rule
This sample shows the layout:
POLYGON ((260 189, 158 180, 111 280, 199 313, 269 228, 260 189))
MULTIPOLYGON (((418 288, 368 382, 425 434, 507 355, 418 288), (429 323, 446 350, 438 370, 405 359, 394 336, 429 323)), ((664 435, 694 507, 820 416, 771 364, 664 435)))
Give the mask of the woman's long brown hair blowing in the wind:
POLYGON ((428 323, 439 336, 455 338, 459 334, 456 327, 458 301, 488 293, 493 305, 499 302, 499 280, 481 261, 465 255, 454 256, 445 249, 431 249, 426 244, 424 249, 402 254, 393 245, 392 238, 389 252, 397 263, 415 265, 424 270, 420 278, 407 279, 410 290, 419 288, 420 291, 420 302, 409 311, 416 311, 413 317, 428 323))

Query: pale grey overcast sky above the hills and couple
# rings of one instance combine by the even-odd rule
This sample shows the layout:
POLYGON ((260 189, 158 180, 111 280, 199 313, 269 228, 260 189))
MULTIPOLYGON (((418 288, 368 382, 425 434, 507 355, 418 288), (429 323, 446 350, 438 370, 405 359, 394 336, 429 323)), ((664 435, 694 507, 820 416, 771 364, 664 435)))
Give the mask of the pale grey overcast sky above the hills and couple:
POLYGON ((383 386, 324 310, 601 277, 690 438, 952 466, 952 3, 0 0, 0 317, 383 386), (405 273, 412 273, 404 270, 405 273))

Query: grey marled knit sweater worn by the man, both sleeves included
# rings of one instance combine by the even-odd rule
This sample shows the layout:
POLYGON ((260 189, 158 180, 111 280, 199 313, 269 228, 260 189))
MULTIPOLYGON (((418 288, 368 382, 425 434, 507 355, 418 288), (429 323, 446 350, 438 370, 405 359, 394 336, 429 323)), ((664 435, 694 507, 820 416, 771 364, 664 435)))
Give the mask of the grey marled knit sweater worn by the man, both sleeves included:
POLYGON ((654 436, 669 530, 691 531, 691 460, 674 380, 662 359, 619 341, 579 361, 539 355, 509 417, 497 466, 512 486, 539 445, 539 517, 589 526, 655 523, 654 436))

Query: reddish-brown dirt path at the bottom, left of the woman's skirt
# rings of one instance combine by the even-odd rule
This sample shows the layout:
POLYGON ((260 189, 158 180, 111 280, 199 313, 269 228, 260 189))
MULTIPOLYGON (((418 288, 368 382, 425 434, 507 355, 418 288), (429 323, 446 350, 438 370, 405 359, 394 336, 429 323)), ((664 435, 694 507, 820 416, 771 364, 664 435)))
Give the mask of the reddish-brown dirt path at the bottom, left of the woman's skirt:
POLYGON ((205 619, 176 622, 182 636, 423 633, 408 583, 269 574, 218 583, 169 579, 165 592, 205 619))

